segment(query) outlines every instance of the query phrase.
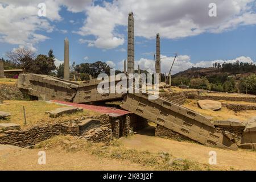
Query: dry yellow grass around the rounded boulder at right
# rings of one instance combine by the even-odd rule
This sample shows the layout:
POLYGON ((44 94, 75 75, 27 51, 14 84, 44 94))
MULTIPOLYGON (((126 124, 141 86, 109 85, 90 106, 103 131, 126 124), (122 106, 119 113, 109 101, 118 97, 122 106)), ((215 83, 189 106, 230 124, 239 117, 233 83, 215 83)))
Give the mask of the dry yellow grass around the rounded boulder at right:
POLYGON ((239 119, 240 121, 247 121, 247 119, 254 117, 256 115, 255 110, 245 110, 240 112, 235 112, 233 110, 229 110, 226 107, 222 107, 221 110, 213 111, 213 110, 205 110, 201 109, 197 105, 196 100, 187 100, 183 104, 183 106, 188 107, 191 110, 197 111, 198 113, 201 113, 203 115, 209 115, 213 117, 214 120, 220 120, 220 119, 239 119))

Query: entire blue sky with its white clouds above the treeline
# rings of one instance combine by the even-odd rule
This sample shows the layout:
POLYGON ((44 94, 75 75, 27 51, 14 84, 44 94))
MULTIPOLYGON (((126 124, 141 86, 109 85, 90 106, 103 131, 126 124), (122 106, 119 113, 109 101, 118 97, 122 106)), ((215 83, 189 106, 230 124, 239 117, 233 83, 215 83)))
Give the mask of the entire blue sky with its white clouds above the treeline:
POLYGON ((39 2, 3 1, 0 23, 5 27, 0 27, 0 53, 5 57, 5 52, 23 46, 38 54, 53 49, 56 59, 62 61, 67 37, 71 62, 101 60, 122 69, 122 61, 127 58, 127 14, 133 11, 135 64, 142 69, 154 71, 152 59, 158 32, 162 72, 169 69, 175 52, 179 57, 174 73, 192 66, 208 67, 214 61, 255 62, 255 1, 233 2, 197 0, 192 4, 183 0, 174 5, 164 0, 158 4, 143 0, 55 0, 46 1, 47 16, 38 17, 39 2), (210 2, 217 5, 217 17, 208 16, 210 2), (160 13, 148 13, 152 9, 160 13))

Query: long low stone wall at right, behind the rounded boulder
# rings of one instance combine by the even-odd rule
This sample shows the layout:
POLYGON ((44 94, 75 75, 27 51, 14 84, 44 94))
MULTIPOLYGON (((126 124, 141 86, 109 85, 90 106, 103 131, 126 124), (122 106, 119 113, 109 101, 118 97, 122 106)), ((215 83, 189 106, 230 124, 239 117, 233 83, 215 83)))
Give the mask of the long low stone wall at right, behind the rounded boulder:
POLYGON ((226 96, 200 96, 198 94, 188 94, 189 99, 195 100, 224 100, 224 101, 245 101, 256 102, 256 97, 226 97, 226 96))

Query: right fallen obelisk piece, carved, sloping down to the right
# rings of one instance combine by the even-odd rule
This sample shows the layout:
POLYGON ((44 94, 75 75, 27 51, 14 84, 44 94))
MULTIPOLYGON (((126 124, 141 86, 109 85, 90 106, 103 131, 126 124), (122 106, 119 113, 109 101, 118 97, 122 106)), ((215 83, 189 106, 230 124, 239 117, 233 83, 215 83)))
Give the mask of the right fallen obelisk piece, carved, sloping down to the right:
POLYGON ((163 98, 148 100, 148 96, 127 94, 121 107, 207 146, 237 149, 237 144, 203 115, 163 98))

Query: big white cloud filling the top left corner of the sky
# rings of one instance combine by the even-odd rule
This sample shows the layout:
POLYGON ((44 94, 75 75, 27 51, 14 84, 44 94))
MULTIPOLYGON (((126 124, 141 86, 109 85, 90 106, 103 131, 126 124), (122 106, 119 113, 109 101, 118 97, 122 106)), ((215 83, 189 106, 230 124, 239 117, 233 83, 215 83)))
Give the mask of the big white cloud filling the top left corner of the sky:
MULTIPOLYGON (((46 35, 38 31, 52 32, 55 26, 52 22, 62 20, 59 11, 61 6, 66 6, 68 11, 77 13, 84 11, 92 0, 46 0, 46 17, 39 17, 40 0, 18 1, 2 0, 0 2, 0 42, 16 44, 31 49, 36 49, 35 44, 48 39, 46 35)), ((56 31, 58 29, 56 28, 56 31)), ((59 30, 63 34, 67 30, 59 30)))

